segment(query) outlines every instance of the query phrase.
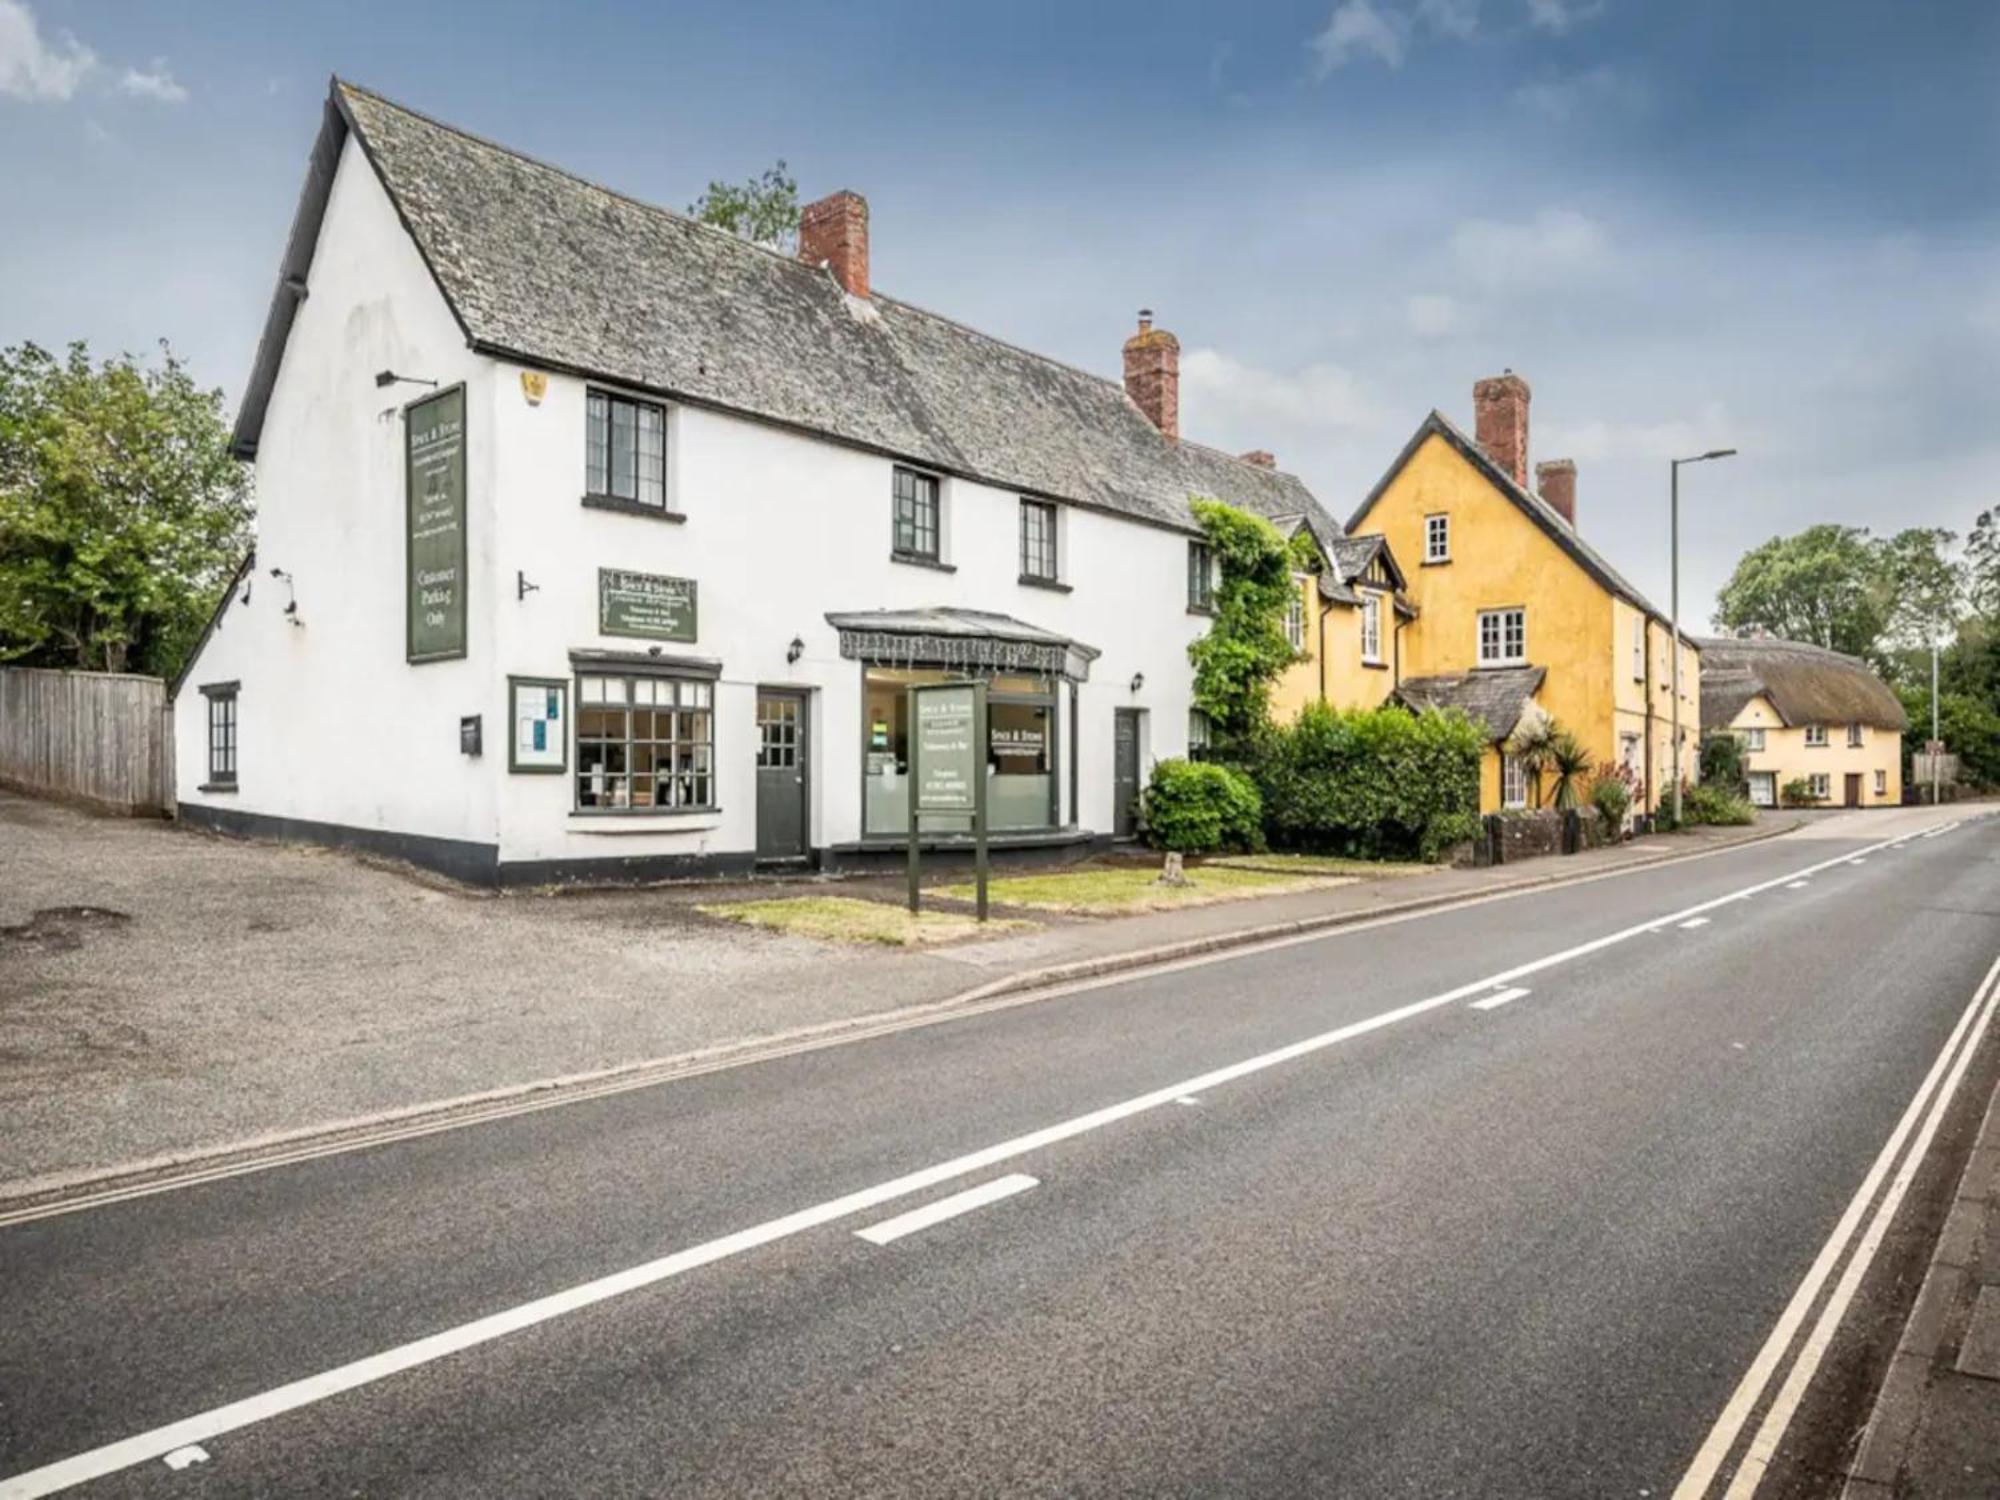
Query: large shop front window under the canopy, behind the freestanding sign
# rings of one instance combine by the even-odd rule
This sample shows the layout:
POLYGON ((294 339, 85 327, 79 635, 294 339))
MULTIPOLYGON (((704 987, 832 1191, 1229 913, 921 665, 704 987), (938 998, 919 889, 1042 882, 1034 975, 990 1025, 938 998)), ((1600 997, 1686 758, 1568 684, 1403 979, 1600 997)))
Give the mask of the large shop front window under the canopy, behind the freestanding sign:
MULTIPOLYGON (((910 832, 910 688, 966 672, 870 666, 862 680, 862 832, 910 832)), ((986 682, 986 822, 996 834, 1056 826, 1056 690, 1048 678, 986 682)), ((924 832, 970 834, 972 820, 926 818, 924 832)))

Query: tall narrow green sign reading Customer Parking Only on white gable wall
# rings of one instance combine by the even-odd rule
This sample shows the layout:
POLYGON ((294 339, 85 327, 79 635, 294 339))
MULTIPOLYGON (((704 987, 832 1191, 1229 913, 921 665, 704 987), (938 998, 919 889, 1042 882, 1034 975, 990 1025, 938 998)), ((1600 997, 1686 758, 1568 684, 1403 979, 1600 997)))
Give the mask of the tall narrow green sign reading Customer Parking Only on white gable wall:
POLYGON ((404 410, 406 654, 466 654, 466 388, 404 410))

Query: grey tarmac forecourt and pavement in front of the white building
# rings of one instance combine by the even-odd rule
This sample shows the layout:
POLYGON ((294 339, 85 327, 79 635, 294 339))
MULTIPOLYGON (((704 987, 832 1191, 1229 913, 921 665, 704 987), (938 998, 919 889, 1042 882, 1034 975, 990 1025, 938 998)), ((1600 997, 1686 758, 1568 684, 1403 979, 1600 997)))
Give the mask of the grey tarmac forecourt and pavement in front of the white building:
MULTIPOLYGON (((1784 826, 1132 918, 1030 912, 1028 932, 886 952, 696 910, 768 882, 496 896, 0 792, 0 1202, 1784 826)), ((840 890, 896 900, 900 878, 840 890)))

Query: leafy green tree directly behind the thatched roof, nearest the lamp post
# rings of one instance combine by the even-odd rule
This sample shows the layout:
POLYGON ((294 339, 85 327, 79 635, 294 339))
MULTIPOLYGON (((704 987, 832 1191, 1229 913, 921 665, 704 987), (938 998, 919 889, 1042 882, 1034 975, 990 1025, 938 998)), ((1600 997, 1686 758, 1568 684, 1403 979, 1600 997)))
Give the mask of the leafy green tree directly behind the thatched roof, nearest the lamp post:
POLYGON ((1872 654, 1888 628, 1888 600, 1866 528, 1808 526, 1752 548, 1716 594, 1716 624, 1872 654))

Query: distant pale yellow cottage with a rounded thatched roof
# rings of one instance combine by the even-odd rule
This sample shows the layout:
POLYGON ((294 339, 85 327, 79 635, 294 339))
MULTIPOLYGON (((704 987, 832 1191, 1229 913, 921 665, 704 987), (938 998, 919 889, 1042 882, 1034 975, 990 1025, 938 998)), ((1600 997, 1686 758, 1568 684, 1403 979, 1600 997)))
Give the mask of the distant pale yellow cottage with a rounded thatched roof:
POLYGON ((1702 724, 1744 742, 1750 800, 1902 802, 1902 702, 1866 662, 1798 640, 1704 640, 1702 724), (1786 786, 1804 796, 1786 798, 1786 786))

